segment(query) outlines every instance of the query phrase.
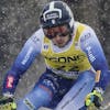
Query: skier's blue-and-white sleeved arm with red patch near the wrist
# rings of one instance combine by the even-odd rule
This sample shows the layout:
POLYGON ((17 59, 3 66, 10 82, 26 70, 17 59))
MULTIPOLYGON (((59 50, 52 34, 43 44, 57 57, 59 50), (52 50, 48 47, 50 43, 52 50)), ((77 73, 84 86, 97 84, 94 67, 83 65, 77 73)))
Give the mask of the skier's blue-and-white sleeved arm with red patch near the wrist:
POLYGON ((43 34, 41 30, 33 34, 24 44, 11 68, 8 70, 3 81, 3 94, 14 94, 20 77, 26 72, 35 57, 41 53, 43 34))

